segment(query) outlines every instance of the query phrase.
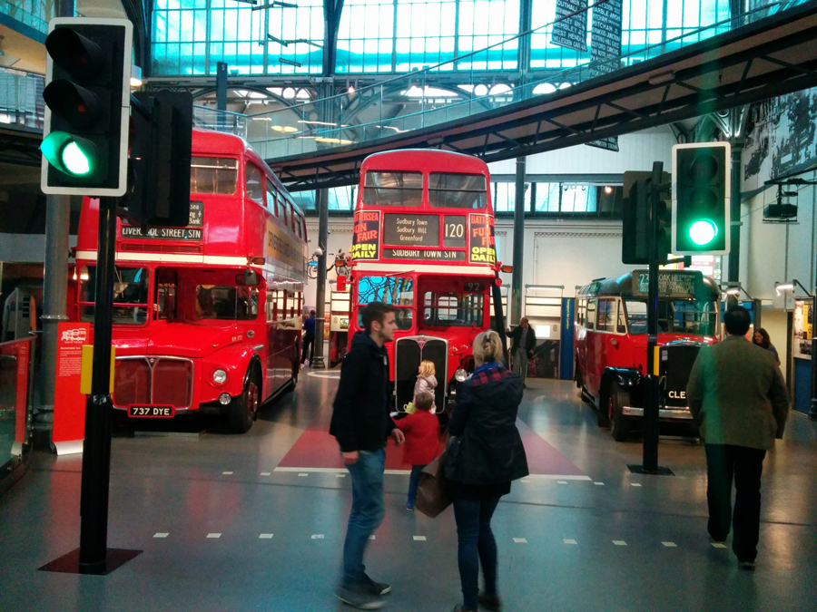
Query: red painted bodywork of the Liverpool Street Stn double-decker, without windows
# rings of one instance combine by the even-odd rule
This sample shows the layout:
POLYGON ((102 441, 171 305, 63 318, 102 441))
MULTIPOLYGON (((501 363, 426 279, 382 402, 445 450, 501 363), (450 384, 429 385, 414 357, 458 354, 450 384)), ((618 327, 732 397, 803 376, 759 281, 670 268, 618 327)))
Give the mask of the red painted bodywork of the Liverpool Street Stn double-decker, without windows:
MULTIPOLYGON (((307 236, 303 213, 275 177, 258 153, 237 136, 215 131, 193 130, 192 163, 197 157, 218 157, 238 160, 235 193, 221 195, 191 193, 191 201, 202 202, 202 238, 156 239, 122 238, 123 220, 117 220, 116 259, 118 267, 143 267, 150 270, 149 307, 144 325, 114 325, 113 345, 117 366, 126 358, 170 356, 189 360, 192 364, 192 397, 189 406, 176 405, 176 413, 199 409, 202 404, 216 403, 221 393, 231 397, 242 393, 245 374, 254 355, 261 364, 262 398, 276 393, 297 373, 300 348, 302 285, 306 282, 307 236), (268 182, 277 198, 289 204, 284 225, 272 202, 250 199, 246 190, 245 168, 252 163, 268 182), (295 214, 292 214, 292 212, 295 214), (299 227, 300 226, 300 227, 299 227), (275 238, 275 247, 272 238, 275 238), (287 257, 279 257, 286 250, 287 257), (176 317, 157 316, 157 269, 170 269, 178 274, 175 296, 176 317), (196 285, 236 286, 236 276, 251 268, 259 273, 258 316, 254 320, 200 319, 195 314, 196 285), (271 300, 272 294, 289 290, 284 311, 271 300), (212 381, 212 372, 223 369, 227 380, 212 381)), ((99 202, 83 200, 77 236, 76 270, 96 264, 99 202)), ((74 278, 74 296, 69 299, 70 316, 79 320, 82 306, 80 282, 74 278)), ((115 300, 114 300, 115 301, 115 300)), ((138 367, 131 368, 138 378, 138 367)), ((120 370, 117 369, 117 372, 120 370)), ((124 371, 124 370, 123 370, 124 371)), ((166 374, 169 382, 182 375, 180 370, 166 374)), ((124 384, 115 376, 116 384, 124 384)), ((138 380, 128 381, 133 393, 138 380)), ((118 387, 117 387, 118 388, 118 387)), ((126 405, 117 402, 119 409, 126 405)), ((148 402, 150 403, 150 402, 148 402)), ((154 402, 155 405, 161 402, 154 402)), ((214 404, 217 405, 217 404, 214 404)))

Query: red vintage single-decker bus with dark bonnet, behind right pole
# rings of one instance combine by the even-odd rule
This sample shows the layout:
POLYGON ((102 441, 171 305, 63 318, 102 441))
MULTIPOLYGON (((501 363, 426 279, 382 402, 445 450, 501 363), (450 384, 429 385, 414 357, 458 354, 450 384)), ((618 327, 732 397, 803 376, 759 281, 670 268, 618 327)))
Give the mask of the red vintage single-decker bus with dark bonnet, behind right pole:
MULTIPOLYGON (((576 295, 576 384, 596 406, 598 424, 616 441, 629 436, 644 416, 642 381, 647 351, 646 270, 600 278, 576 295)), ((662 420, 692 424, 686 384, 701 346, 720 335, 720 289, 710 277, 690 270, 659 274, 658 345, 662 420)))

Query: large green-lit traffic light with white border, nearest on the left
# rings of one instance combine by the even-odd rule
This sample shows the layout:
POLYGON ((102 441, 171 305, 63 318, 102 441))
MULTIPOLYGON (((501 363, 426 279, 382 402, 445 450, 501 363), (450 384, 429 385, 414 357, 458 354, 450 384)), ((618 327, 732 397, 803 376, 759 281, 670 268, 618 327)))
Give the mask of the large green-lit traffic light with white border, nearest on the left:
POLYGON ((127 186, 133 24, 58 17, 45 50, 44 193, 121 196, 127 186))

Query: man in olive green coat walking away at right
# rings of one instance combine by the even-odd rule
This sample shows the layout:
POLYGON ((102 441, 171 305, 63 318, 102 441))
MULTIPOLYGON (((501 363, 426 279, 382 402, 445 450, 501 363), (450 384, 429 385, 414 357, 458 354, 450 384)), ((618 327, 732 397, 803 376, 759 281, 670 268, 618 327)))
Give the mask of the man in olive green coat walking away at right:
POLYGON ((783 438, 789 397, 769 351, 746 340, 751 316, 735 306, 723 316, 726 339, 701 349, 686 398, 706 449, 709 535, 732 549, 741 568, 754 567, 760 529, 763 459, 783 438), (732 516, 732 481, 735 500, 732 516))

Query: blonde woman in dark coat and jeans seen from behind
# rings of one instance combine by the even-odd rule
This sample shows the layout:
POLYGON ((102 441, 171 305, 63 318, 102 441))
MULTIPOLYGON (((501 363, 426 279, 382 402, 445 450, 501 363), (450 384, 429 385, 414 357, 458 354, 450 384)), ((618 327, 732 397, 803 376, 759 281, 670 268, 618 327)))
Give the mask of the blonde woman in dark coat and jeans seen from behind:
POLYGON ((460 384, 457 405, 448 421, 454 438, 446 478, 457 520, 459 578, 464 602, 455 612, 475 612, 477 605, 499 610, 497 542, 491 517, 510 483, 527 476, 527 458, 517 430, 522 378, 502 366, 497 332, 474 339, 477 370, 460 384), (478 592, 479 563, 485 592, 478 592))

